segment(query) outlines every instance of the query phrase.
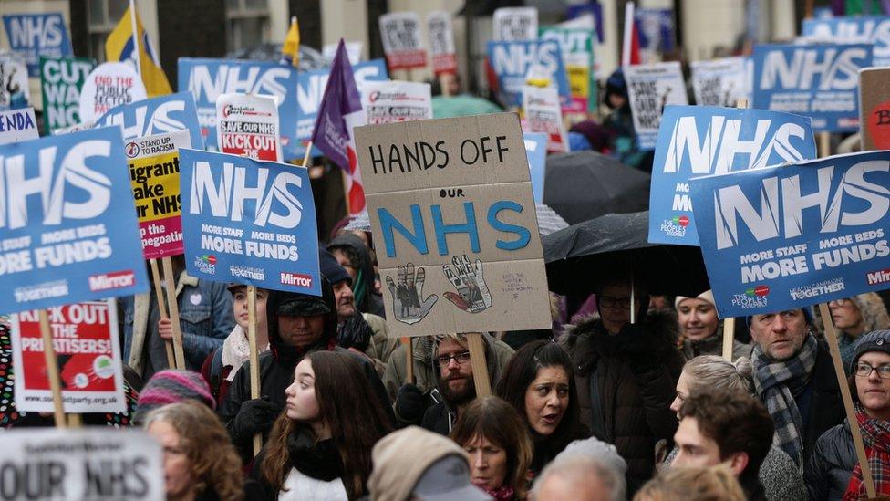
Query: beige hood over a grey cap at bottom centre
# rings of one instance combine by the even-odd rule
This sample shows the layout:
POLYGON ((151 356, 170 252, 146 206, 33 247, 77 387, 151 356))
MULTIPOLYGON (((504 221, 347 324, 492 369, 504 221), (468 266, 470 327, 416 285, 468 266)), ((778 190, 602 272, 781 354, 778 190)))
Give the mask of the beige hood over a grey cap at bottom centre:
POLYGON ((389 433, 371 451, 374 471, 367 480, 371 499, 409 499, 427 468, 451 454, 469 461, 467 453, 458 444, 439 433, 429 432, 419 426, 409 426, 389 433))

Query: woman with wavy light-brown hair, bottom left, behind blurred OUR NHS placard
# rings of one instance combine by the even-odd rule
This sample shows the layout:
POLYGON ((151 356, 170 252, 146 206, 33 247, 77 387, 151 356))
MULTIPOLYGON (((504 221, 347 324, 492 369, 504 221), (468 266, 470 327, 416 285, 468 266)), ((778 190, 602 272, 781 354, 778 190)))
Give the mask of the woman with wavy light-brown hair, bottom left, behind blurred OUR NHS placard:
POLYGON ((241 457, 209 407, 194 401, 170 403, 151 411, 144 426, 164 450, 167 499, 243 499, 241 457))

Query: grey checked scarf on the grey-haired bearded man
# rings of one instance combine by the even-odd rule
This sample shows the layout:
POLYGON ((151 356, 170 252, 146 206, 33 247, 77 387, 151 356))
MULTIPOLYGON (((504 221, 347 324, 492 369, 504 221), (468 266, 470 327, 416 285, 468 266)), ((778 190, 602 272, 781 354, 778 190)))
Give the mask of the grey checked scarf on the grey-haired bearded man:
POLYGON ((801 351, 791 359, 771 360, 760 345, 755 346, 752 357, 754 387, 776 425, 772 442, 781 447, 799 469, 803 467, 803 419, 794 402, 794 393, 810 381, 818 350, 819 343, 808 335, 801 351))

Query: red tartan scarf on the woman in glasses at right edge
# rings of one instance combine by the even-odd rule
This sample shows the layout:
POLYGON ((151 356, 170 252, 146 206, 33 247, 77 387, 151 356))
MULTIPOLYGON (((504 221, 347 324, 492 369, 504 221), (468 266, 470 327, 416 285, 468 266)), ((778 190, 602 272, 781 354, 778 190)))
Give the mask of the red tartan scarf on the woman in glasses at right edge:
MULTIPOLYGON (((863 434, 865 457, 872 470, 874 490, 878 495, 890 495, 890 422, 872 419, 865 413, 862 404, 856 402, 856 421, 863 434)), ((843 493, 843 501, 864 499, 865 484, 862 477, 862 466, 856 463, 850 484, 843 493)))

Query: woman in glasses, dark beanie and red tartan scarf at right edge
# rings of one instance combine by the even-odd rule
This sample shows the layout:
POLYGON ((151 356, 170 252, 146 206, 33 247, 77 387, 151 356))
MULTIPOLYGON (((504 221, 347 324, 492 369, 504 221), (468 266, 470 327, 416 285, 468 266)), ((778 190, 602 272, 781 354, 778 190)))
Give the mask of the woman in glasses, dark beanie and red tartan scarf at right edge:
MULTIPOLYGON (((890 495, 890 330, 875 330, 859 339, 851 372, 850 393, 874 487, 878 496, 890 495)), ((819 437, 807 466, 811 499, 865 498, 862 468, 846 421, 819 437)))

